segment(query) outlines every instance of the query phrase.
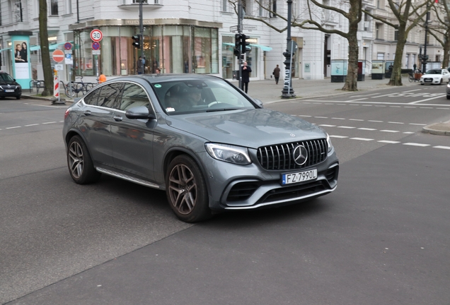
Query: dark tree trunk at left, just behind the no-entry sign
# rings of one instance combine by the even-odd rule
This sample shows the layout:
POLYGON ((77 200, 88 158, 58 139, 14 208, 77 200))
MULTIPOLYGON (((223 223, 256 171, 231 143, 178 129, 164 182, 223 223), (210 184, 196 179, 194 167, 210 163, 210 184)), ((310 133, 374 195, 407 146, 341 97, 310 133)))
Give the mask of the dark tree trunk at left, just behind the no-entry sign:
POLYGON ((42 70, 44 71, 44 85, 42 96, 53 95, 53 73, 50 63, 50 50, 48 47, 47 30, 47 1, 39 0, 39 40, 42 70))

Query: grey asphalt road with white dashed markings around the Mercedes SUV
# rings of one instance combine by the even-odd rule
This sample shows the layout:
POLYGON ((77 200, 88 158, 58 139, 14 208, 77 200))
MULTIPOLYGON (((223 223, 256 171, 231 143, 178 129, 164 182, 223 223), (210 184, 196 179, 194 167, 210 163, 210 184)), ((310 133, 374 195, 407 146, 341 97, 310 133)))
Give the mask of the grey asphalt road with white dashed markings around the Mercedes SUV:
POLYGON ((1 101, 0 303, 447 304, 450 137, 420 132, 450 119, 439 94, 267 103, 330 134, 337 190, 197 225, 161 191, 74 184, 65 107, 1 101))

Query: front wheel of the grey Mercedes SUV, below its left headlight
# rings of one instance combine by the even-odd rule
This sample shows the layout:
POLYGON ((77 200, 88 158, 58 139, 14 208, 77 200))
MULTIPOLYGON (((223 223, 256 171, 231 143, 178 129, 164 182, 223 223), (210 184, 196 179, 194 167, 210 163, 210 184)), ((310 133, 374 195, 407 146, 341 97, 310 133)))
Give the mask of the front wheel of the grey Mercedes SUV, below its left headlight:
POLYGON ((173 212, 184 222, 199 222, 212 216, 200 167, 187 155, 175 157, 168 166, 166 195, 173 212))

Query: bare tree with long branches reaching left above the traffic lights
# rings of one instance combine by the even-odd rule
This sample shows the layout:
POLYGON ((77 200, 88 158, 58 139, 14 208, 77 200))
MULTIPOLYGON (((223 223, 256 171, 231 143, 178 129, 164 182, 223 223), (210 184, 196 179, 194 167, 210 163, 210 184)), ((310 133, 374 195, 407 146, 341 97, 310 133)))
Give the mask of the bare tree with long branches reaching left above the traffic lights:
MULTIPOLYGON (((232 4, 236 8, 237 0, 229 0, 229 3, 232 4)), ((258 6, 261 6, 265 11, 268 11, 272 16, 277 16, 282 20, 287 21, 287 17, 279 15, 276 11, 272 10, 270 6, 264 5, 262 0, 255 0, 258 6)), ((303 28, 306 30, 319 30, 326 34, 337 34, 345 39, 347 39, 349 44, 349 58, 348 58, 348 69, 347 69, 347 78, 345 80, 345 85, 342 90, 346 91, 357 91, 357 78, 358 78, 358 23, 362 18, 362 0, 347 0, 342 2, 347 9, 336 8, 335 6, 328 6, 325 4, 321 4, 316 0, 306 0, 307 10, 306 16, 307 19, 299 20, 298 17, 293 18, 291 22, 292 27, 303 28), (336 30, 333 28, 327 28, 324 24, 326 20, 323 20, 322 16, 319 16, 317 13, 318 10, 328 10, 333 11, 335 13, 341 14, 344 18, 348 20, 349 27, 347 32, 336 30)), ((255 16, 245 16, 246 19, 258 20, 268 27, 276 30, 277 32, 284 32, 287 30, 286 28, 277 28, 275 25, 272 25, 267 19, 255 16)))

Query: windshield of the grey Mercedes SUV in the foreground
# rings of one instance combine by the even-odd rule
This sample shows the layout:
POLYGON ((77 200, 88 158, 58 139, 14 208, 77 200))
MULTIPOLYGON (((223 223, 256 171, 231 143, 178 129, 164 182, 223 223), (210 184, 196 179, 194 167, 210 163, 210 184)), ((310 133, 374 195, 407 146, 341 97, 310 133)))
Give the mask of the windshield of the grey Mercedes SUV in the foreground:
POLYGON ((169 115, 255 108, 241 92, 221 79, 171 80, 152 85, 169 115))

